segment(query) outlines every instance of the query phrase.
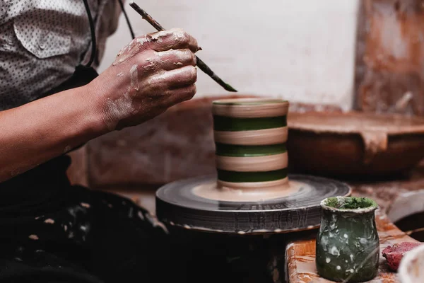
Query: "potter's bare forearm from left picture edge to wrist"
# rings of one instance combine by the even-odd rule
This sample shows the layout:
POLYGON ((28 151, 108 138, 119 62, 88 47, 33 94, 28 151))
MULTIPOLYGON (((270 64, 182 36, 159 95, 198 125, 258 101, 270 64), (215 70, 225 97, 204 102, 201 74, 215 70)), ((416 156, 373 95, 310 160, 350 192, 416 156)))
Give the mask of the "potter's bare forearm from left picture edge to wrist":
POLYGON ((0 112, 0 182, 107 132, 90 86, 0 112))

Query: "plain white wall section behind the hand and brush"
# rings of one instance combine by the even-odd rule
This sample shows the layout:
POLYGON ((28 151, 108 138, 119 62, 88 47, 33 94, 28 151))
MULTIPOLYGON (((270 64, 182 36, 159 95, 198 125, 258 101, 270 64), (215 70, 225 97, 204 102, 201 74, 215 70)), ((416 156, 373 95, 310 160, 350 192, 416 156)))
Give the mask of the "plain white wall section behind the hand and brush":
MULTIPOLYGON (((129 1, 127 1, 129 2, 129 1)), ((165 28, 184 28, 198 56, 240 93, 351 108, 358 0, 138 0, 165 28)), ((136 35, 155 31, 126 4, 136 35)), ((124 16, 100 71, 130 40, 124 16)), ((196 96, 226 93, 199 70, 196 96)))

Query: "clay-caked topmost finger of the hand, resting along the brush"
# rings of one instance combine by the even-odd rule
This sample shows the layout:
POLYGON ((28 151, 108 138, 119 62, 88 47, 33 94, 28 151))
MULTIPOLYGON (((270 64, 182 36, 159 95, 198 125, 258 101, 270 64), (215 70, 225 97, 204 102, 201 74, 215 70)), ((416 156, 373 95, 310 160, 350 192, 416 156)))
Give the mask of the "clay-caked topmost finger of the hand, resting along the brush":
POLYGON ((129 42, 118 54, 113 65, 121 64, 134 57, 143 50, 154 50, 163 52, 167 50, 189 49, 192 52, 199 51, 197 40, 181 29, 164 30, 151 33, 129 42))

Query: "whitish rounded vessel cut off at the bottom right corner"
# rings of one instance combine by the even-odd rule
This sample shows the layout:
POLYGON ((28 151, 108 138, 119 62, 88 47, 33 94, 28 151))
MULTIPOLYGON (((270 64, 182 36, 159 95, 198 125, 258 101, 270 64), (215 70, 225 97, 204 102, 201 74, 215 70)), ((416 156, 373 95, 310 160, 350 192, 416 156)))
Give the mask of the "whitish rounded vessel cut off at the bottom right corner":
POLYGON ((398 273, 401 283, 424 282, 424 245, 406 253, 401 260, 398 273))

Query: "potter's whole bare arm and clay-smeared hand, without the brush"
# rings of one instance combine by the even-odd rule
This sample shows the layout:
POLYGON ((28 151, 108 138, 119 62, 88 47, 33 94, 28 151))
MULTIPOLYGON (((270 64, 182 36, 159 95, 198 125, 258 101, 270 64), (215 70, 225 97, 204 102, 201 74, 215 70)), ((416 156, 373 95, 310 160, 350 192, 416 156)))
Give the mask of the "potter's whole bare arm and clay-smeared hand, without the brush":
POLYGON ((88 85, 0 112, 0 182, 191 99, 198 50, 179 29, 137 37, 88 85))

